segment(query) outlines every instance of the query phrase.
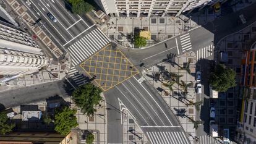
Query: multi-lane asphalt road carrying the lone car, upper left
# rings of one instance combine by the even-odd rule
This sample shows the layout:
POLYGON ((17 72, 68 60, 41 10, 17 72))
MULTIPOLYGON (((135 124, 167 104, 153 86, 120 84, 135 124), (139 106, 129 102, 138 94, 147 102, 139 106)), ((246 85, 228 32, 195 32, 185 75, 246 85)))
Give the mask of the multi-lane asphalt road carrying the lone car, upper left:
POLYGON ((65 48, 96 28, 87 15, 72 14, 69 11, 69 4, 65 1, 31 0, 30 5, 25 1, 19 1, 29 10, 27 12, 33 19, 41 19, 38 26, 43 28, 63 52, 65 52, 65 48), (57 22, 49 19, 48 13, 51 13, 57 22))

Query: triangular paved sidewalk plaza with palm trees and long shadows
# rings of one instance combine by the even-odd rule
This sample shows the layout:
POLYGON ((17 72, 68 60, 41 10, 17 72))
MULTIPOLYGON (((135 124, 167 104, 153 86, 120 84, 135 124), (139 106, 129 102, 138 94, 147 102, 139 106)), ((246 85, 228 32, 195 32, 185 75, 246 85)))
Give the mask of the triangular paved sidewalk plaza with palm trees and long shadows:
MULTIPOLYGON (((185 53, 181 56, 177 56, 174 58, 174 62, 177 63, 172 66, 171 62, 163 62, 161 64, 158 64, 157 66, 153 66, 150 69, 148 69, 147 74, 143 74, 145 78, 153 85, 153 87, 158 90, 158 93, 160 93, 161 96, 163 96, 163 99, 166 101, 166 103, 169 105, 169 107, 173 110, 174 114, 180 114, 181 111, 184 111, 184 114, 187 117, 190 117, 190 119, 194 119, 194 121, 197 121, 195 119, 196 109, 195 106, 192 105, 192 103, 195 103, 196 101, 196 95, 195 95, 195 54, 194 53, 185 53), (190 59, 190 60, 189 60, 190 59), (188 74, 186 70, 181 70, 180 67, 183 67, 184 64, 186 64, 187 61, 191 61, 190 63, 190 70, 192 75, 188 74), (185 62, 185 63, 184 63, 185 62), (188 88, 188 93, 186 98, 184 98, 182 93, 181 86, 177 85, 177 83, 174 83, 173 85, 173 91, 169 90, 168 87, 165 87, 163 83, 166 83, 165 78, 169 78, 170 76, 160 76, 160 80, 156 80, 153 75, 157 75, 159 72, 164 72, 164 70, 167 70, 168 72, 171 72, 172 74, 182 75, 180 78, 185 83, 192 82, 193 85, 188 88), (190 103, 190 102, 191 103, 190 103)), ((170 80, 170 79, 169 79, 170 80)), ((195 135, 195 129, 193 122, 187 118, 187 117, 180 117, 177 116, 179 119, 179 122, 181 122, 181 125, 185 132, 190 135, 195 135)), ((189 137, 190 141, 194 143, 194 140, 192 137, 189 137)))

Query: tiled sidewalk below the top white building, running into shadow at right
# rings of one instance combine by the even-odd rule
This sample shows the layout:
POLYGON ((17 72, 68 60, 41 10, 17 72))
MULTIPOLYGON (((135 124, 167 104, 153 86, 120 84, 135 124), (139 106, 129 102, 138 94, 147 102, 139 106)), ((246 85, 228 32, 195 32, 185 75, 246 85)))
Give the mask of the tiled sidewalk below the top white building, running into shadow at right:
POLYGON ((180 35, 181 33, 189 30, 190 28, 204 25, 207 22, 218 19, 222 15, 228 14, 233 11, 249 6, 251 2, 256 0, 242 0, 231 1, 229 4, 221 6, 221 13, 216 14, 213 9, 205 7, 202 11, 193 12, 189 16, 180 15, 179 17, 111 17, 108 23, 101 25, 106 35, 112 40, 117 41, 122 46, 133 47, 130 44, 134 28, 150 30, 151 40, 148 40, 148 45, 158 43, 158 41, 166 40, 173 36, 180 35))

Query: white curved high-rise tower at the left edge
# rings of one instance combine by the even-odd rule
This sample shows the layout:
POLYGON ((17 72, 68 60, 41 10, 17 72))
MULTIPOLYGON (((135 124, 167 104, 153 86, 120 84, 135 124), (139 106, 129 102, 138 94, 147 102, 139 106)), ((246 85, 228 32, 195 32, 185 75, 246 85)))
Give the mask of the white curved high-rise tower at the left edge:
POLYGON ((0 75, 32 74, 48 64, 48 57, 28 33, 0 22, 0 75))

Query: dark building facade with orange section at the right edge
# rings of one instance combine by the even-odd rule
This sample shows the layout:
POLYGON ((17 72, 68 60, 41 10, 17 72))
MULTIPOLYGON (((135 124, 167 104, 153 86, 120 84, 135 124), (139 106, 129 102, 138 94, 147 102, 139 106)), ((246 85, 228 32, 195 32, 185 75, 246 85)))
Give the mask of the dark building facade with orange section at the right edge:
POLYGON ((244 52, 241 75, 240 117, 236 140, 239 143, 256 143, 256 44, 244 52))

